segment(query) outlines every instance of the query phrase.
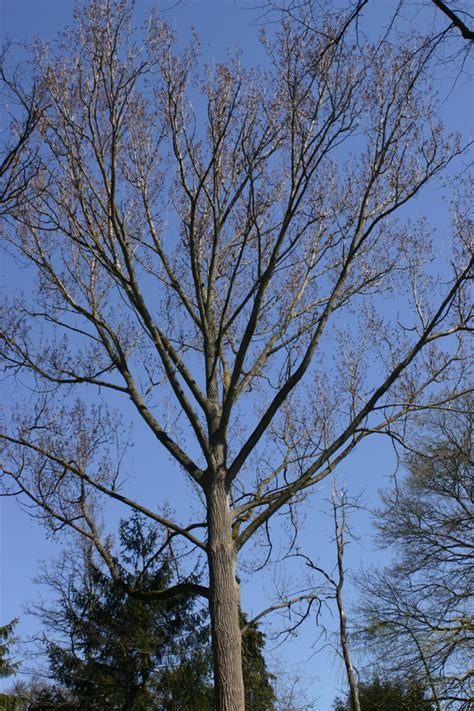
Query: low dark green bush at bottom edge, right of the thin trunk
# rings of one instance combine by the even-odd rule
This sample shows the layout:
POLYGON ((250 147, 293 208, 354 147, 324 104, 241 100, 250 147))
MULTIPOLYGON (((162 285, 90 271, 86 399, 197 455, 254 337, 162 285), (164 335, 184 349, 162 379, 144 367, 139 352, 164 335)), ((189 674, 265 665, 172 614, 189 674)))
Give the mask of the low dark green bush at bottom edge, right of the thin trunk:
MULTIPOLYGON (((359 684, 359 700, 362 711, 434 711, 434 706, 425 698, 423 685, 409 679, 380 679, 359 684)), ((352 696, 336 699, 334 711, 354 711, 352 696)))

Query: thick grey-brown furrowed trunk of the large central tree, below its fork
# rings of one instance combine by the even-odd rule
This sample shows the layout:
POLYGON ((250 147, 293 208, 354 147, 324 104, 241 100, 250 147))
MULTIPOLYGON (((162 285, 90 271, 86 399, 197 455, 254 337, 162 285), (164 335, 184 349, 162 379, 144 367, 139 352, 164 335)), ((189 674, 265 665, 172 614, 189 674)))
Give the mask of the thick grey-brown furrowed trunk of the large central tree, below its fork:
POLYGON ((235 577, 235 549, 229 496, 222 479, 207 496, 210 613, 216 711, 244 711, 240 591, 235 577))

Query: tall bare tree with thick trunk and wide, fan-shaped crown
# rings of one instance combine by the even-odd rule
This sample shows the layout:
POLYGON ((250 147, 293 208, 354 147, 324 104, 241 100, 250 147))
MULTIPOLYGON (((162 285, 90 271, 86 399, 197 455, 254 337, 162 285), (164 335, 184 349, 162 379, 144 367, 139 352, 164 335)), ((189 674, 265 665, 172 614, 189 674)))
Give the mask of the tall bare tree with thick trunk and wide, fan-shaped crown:
POLYGON ((152 16, 137 42, 130 13, 86 4, 37 49, 42 169, 2 228, 36 279, 0 330, 29 404, 5 412, 2 479, 114 579, 100 494, 204 558, 204 581, 186 557, 148 598, 208 600, 216 707, 241 711, 239 551, 366 437, 445 401, 440 381, 463 388, 467 210, 438 271, 402 211, 462 147, 434 118, 430 47, 357 41, 352 4, 321 32, 283 23, 259 76, 236 59, 199 81, 197 41, 175 51, 152 16), (141 466, 191 481, 195 518, 120 486, 104 393, 175 465, 141 466))

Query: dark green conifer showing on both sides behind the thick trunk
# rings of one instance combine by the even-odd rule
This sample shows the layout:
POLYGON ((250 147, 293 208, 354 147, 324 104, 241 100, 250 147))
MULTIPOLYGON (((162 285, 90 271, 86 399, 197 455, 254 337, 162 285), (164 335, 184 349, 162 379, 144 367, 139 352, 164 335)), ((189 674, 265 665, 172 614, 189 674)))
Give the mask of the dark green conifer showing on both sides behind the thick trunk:
MULTIPOLYGON (((45 627, 41 646, 49 659, 48 676, 69 692, 78 708, 214 708, 205 611, 196 611, 189 595, 166 601, 146 598, 147 592, 169 585, 178 555, 157 539, 157 531, 137 515, 121 523, 116 560, 120 581, 104 572, 87 545, 44 566, 38 582, 54 598, 32 612, 45 627), (123 580, 144 596, 128 595, 123 580)), ((263 656, 264 637, 256 625, 246 630, 242 645, 246 707, 272 711, 275 697, 263 656)), ((46 691, 52 706, 57 692, 49 686, 43 697, 46 691)), ((48 700, 33 696, 36 704, 48 700)))

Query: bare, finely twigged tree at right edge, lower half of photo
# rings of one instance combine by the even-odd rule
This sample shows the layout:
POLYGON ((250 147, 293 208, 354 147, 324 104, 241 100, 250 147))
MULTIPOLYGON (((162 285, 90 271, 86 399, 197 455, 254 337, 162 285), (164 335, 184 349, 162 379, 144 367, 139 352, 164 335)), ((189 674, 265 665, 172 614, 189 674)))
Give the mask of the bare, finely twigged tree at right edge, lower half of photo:
POLYGON ((424 416, 408 474, 376 518, 395 562, 362 585, 364 647, 379 668, 415 673, 436 708, 474 698, 472 405, 424 416))

